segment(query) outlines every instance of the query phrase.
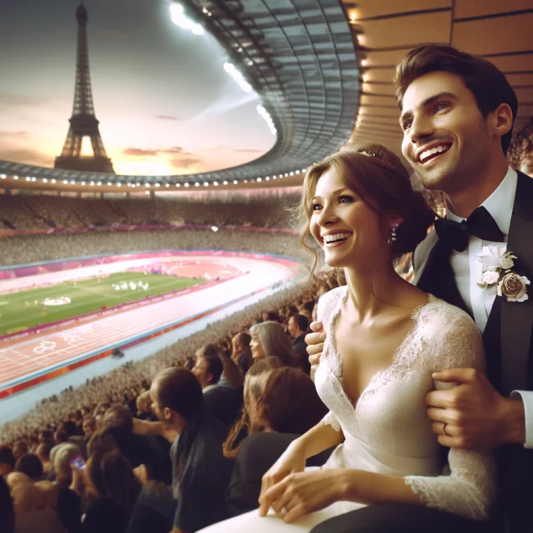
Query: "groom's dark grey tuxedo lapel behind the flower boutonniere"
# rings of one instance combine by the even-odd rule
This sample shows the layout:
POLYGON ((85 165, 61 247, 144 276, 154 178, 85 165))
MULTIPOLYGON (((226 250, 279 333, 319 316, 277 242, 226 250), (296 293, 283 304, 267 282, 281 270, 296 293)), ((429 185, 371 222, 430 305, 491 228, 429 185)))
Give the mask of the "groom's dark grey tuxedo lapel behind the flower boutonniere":
MULTIPOLYGON (((518 172, 507 250, 518 259, 514 269, 533 282, 533 179, 518 172)), ((506 396, 527 386, 528 359, 533 328, 533 285, 525 302, 501 300, 502 384, 506 396)), ((530 363, 531 365, 532 363, 530 363)), ((530 369, 531 371, 532 369, 530 369)), ((532 386, 531 382, 529 383, 532 386)))

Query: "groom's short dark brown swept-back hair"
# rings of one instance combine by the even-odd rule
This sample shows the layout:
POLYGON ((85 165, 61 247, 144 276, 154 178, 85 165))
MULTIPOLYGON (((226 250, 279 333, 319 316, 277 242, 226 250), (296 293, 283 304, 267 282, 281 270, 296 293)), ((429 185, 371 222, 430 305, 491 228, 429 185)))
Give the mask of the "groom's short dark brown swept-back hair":
MULTIPOLYGON (((518 99, 502 71, 486 59, 472 56, 455 49, 453 46, 429 44, 417 46, 403 56, 396 65, 394 84, 396 101, 403 105, 407 87, 417 78, 430 72, 445 71, 457 74, 464 85, 474 95, 477 107, 484 118, 498 105, 507 103, 513 113, 513 122, 518 109, 518 99)), ((513 128, 502 135, 502 150, 507 153, 513 128)))

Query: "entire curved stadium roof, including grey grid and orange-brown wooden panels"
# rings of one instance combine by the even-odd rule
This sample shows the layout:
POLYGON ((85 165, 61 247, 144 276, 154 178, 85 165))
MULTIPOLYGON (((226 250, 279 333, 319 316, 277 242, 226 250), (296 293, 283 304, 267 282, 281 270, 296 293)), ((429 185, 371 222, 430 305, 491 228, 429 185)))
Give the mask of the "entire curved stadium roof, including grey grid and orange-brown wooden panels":
POLYGON ((6 185, 86 190, 81 183, 88 186, 92 181, 91 192, 125 190, 107 183, 124 187, 198 183, 209 188, 215 182, 232 187, 295 185, 302 169, 348 139, 380 142, 399 153, 402 135, 391 78, 396 62, 418 44, 452 44, 484 56, 513 85, 518 120, 533 116, 531 0, 184 0, 183 4, 187 15, 223 44, 232 65, 260 94, 278 134, 273 149, 239 167, 187 176, 90 175, 0 161, 0 178, 7 176, 6 185), (10 183, 15 174, 20 181, 10 183), (273 176, 284 181, 273 181, 273 176), (51 185, 52 179, 56 185, 51 185))

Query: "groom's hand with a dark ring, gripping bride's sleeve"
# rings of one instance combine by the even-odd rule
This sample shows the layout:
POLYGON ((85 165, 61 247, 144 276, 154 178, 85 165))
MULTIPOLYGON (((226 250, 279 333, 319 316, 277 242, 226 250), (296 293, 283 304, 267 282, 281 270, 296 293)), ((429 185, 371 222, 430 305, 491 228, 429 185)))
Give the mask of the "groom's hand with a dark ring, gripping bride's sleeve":
POLYGON ((502 396, 476 369, 446 369, 433 374, 439 382, 459 384, 428 392, 425 403, 439 443, 450 448, 491 450, 525 442, 522 400, 502 396))

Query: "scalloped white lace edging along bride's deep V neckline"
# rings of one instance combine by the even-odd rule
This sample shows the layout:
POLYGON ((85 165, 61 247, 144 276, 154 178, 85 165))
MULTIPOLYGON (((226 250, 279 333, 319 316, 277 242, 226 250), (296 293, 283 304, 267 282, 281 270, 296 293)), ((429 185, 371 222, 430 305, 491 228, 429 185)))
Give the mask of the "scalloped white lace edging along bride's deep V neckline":
POLYGON ((412 323, 411 327, 409 328, 409 330, 407 331, 407 335, 405 335, 403 341, 401 341, 400 344, 398 344, 398 346, 396 347, 396 350, 394 350, 394 354, 392 356, 391 363, 388 364, 387 366, 385 366, 383 369, 378 370, 372 376, 372 378, 370 379, 368 384, 366 384, 366 387, 364 387, 364 389, 359 394, 359 398, 357 398, 357 400, 355 400, 355 402, 354 402, 353 400, 350 400, 350 397, 348 396, 348 394, 346 394, 346 390, 344 389, 344 368, 343 368, 344 364, 343 364, 343 360, 341 358, 341 355, 339 354, 339 350, 337 349, 337 337, 335 335, 335 330, 337 329, 337 319, 339 318, 339 316, 341 314, 341 307, 348 300, 348 295, 349 294, 350 293, 348 291, 348 285, 346 285, 345 288, 344 288, 344 294, 340 298, 339 305, 337 305, 337 308, 335 309, 335 312, 332 313, 332 316, 331 316, 331 319, 330 319, 330 343, 331 343, 331 347, 332 347, 332 351, 333 351, 333 357, 335 357, 335 359, 337 361, 338 375, 335 375, 335 378, 337 378, 337 380, 339 381, 339 384, 341 385, 342 393, 346 397, 346 400, 348 400, 350 405, 352 405, 353 409, 357 410, 357 405, 359 405, 359 403, 361 401, 361 398, 368 391, 370 391, 373 387, 375 387, 375 384, 378 383, 379 380, 384 375, 386 375, 387 373, 390 373, 391 371, 393 371, 394 368, 396 368, 396 366, 398 366, 398 364, 399 364, 399 355, 402 353, 402 351, 405 348, 405 346, 409 343, 409 341, 414 336, 414 333, 415 333, 416 328, 418 326, 418 319, 420 319, 421 312, 426 307, 428 307, 428 305, 431 305, 432 303, 435 303, 435 302, 439 301, 439 298, 436 298, 432 294, 428 294, 428 302, 427 303, 421 303, 420 305, 417 305, 414 308, 414 310, 413 310, 413 312, 411 314, 411 319, 412 319, 413 323, 412 323))

